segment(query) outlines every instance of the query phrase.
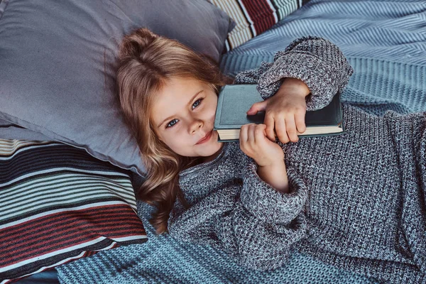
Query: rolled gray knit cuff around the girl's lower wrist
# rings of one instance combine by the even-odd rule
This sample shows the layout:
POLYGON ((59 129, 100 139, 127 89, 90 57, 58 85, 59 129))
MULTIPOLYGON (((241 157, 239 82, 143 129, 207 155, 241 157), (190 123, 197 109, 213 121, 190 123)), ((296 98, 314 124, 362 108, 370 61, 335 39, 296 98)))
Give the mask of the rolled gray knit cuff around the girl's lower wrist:
POLYGON ((241 202, 258 219, 270 224, 289 224, 300 214, 307 200, 305 182, 289 168, 287 170, 290 193, 275 190, 261 180, 256 173, 256 163, 249 163, 244 169, 241 202))

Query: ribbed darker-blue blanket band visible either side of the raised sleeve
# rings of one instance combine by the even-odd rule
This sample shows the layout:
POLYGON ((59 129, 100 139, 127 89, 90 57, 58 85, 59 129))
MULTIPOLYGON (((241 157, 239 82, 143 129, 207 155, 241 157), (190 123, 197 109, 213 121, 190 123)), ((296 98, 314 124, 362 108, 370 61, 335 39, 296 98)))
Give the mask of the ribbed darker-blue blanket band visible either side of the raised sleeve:
MULTIPOLYGON (((269 64, 273 58, 274 55, 224 55, 221 67, 227 75, 235 77, 244 70, 269 64)), ((355 72, 342 92, 342 102, 377 116, 388 110, 398 114, 425 111, 426 65, 346 58, 355 72)))

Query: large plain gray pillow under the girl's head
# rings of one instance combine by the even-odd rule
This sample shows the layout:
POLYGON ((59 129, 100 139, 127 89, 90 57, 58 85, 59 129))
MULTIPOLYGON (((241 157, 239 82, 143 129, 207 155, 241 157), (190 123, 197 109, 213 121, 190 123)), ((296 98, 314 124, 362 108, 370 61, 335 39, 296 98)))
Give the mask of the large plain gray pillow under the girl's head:
POLYGON ((219 61, 234 22, 205 0, 1 1, 0 138, 61 141, 143 175, 114 92, 119 42, 141 27, 219 61))

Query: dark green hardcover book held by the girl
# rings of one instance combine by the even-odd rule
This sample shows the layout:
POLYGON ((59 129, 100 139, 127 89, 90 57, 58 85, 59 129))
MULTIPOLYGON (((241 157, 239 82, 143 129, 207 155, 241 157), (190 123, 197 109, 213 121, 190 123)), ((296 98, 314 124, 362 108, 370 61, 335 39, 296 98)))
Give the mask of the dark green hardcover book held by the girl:
MULTIPOLYGON (((219 142, 239 140, 239 131, 244 124, 263 124, 265 111, 247 115, 251 106, 263 99, 256 84, 228 84, 219 91, 214 130, 219 134, 219 142)), ((335 94, 332 102, 322 109, 306 111, 306 131, 297 136, 324 136, 344 133, 340 94, 335 94)))

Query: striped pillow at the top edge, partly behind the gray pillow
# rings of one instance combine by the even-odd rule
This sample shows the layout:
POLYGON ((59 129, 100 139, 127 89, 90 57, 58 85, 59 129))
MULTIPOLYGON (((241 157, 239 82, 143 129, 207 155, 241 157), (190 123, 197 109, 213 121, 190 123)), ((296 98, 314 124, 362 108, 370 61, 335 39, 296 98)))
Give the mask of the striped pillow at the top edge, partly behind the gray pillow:
POLYGON ((209 0, 235 22, 226 38, 226 51, 271 28, 309 0, 209 0))

